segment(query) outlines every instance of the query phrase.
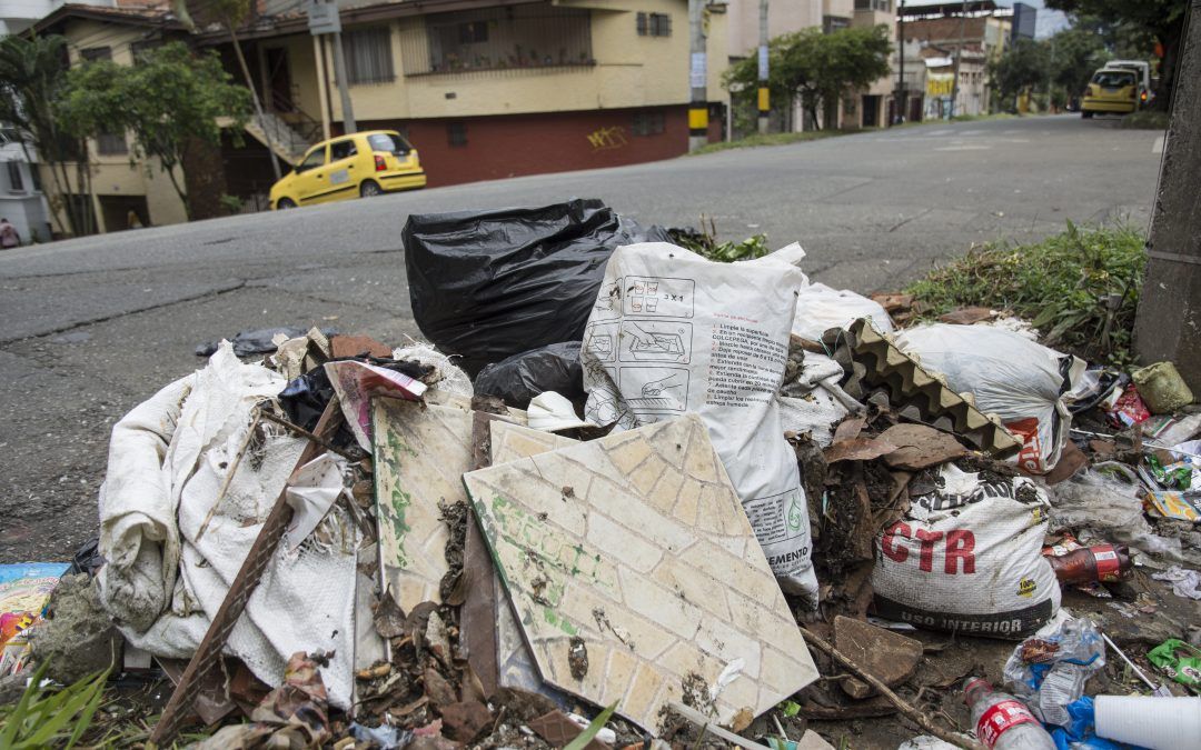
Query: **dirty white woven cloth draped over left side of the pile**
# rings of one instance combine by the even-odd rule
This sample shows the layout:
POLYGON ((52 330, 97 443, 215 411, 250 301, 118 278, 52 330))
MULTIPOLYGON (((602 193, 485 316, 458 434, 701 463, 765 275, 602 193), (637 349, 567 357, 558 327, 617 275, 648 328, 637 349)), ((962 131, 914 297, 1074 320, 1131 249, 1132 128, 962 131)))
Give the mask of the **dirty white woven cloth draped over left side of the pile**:
MULTIPOLYGON (((244 364, 222 342, 208 366, 166 386, 114 427, 100 491, 101 602, 121 632, 151 654, 187 659, 238 575, 283 490, 303 440, 261 424, 203 534, 250 428, 251 409, 285 379, 244 364)), ((334 652, 322 678, 330 703, 353 688, 357 528, 335 509, 323 545, 281 545, 226 652, 270 685, 298 650, 334 652)))

